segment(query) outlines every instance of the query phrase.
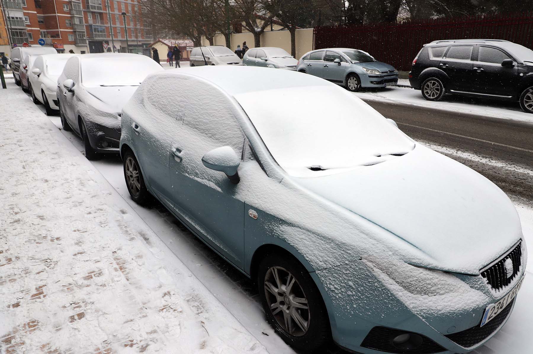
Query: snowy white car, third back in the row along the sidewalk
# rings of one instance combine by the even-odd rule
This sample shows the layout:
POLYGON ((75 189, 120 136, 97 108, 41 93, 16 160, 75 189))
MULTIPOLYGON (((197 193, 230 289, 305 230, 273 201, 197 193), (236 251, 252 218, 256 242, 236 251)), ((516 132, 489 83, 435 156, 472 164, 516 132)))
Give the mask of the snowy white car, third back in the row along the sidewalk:
MULTIPOLYGON (((35 104, 42 103, 46 114, 51 115, 59 111, 57 96, 58 78, 63 68, 72 56, 76 54, 45 54, 35 58, 28 70, 28 89, 35 104)), ((28 55, 27 58, 30 56, 28 55)), ((22 82, 22 75, 21 82, 22 82)))

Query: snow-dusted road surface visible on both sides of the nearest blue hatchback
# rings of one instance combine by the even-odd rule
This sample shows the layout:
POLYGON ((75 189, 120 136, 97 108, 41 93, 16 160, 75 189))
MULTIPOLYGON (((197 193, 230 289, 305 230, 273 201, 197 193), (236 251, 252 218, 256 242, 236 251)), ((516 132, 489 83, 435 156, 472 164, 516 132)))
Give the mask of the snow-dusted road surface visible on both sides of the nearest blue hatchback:
MULTIPOLYGON (((30 102, 28 98, 28 104, 30 102)), ((489 125, 492 123, 479 121, 478 125, 474 124, 470 128, 465 128, 467 125, 473 124, 471 121, 476 121, 475 118, 460 114, 450 114, 449 117, 443 117, 445 113, 442 111, 428 110, 424 107, 417 108, 413 105, 406 107, 380 104, 379 102, 373 102, 372 105, 385 116, 397 121, 400 129, 410 136, 417 140, 423 140, 430 147, 471 166, 504 188, 519 209, 524 234, 529 238, 527 240, 529 249, 533 249, 533 212, 531 209, 532 193, 530 186, 533 175, 533 167, 531 166, 531 161, 533 161, 533 155, 531 154, 533 151, 523 151, 528 150, 527 144, 530 144, 531 139, 529 139, 529 143, 527 140, 522 141, 523 138, 520 133, 521 129, 528 128, 524 128, 522 125, 514 127, 515 124, 513 123, 511 124, 512 127, 508 128, 513 133, 504 130, 500 132, 500 138, 504 140, 497 140, 497 129, 503 129, 503 125, 500 125, 503 123, 500 122, 493 122, 494 127, 491 127, 489 125), (458 117, 455 123, 453 123, 454 116, 458 117), (418 121, 415 121, 416 119, 418 121), (446 124, 438 126, 438 124, 443 124, 442 122, 445 120, 449 121, 448 127, 446 127, 446 124), (484 133, 483 129, 486 129, 484 133), (493 136, 484 135, 488 134, 491 129, 495 130, 496 134, 493 134, 493 136), (470 133, 474 135, 470 136, 470 133), (468 137, 475 139, 469 139, 468 137), (522 145, 513 145, 517 141, 522 145), (497 144, 492 144, 493 142, 497 144), (519 147, 519 149, 510 149, 510 147, 503 145, 519 147), (506 181, 511 181, 507 183, 509 186, 506 186, 506 181)), ((48 119, 44 114, 42 118, 43 120, 48 119)), ((59 116, 53 116, 50 119, 56 127, 59 128, 61 126, 59 116)), ((62 132, 78 150, 83 150, 79 138, 69 132, 62 132)), ((527 131, 523 136, 533 137, 533 132, 527 131)), ((260 305, 255 299, 255 291, 252 289, 251 283, 243 275, 233 270, 231 266, 185 230, 172 215, 166 212, 164 207, 155 205, 152 208, 141 208, 130 200, 124 183, 122 163, 119 158, 106 156, 100 161, 93 162, 93 165, 130 204, 135 212, 143 218, 158 237, 166 243, 174 252, 174 255, 181 259, 206 288, 230 310, 232 315, 266 349, 275 353, 293 353, 264 321, 260 305)), ((530 333, 533 332, 533 324, 530 321, 530 318, 533 318, 533 306, 530 305, 529 300, 533 297, 533 273, 531 272, 533 272, 533 266, 530 263, 528 265, 528 276, 517 298, 510 320, 502 331, 475 353, 526 354, 530 352, 532 343, 530 333)), ((332 348, 331 352, 341 351, 332 348)))

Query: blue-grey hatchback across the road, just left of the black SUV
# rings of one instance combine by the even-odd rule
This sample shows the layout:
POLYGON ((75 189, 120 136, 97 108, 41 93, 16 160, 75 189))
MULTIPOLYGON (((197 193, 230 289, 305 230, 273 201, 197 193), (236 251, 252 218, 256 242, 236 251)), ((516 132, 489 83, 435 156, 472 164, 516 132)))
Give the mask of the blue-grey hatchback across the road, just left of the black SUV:
POLYGON ((302 56, 296 70, 345 86, 350 91, 398 83, 398 70, 376 61, 372 55, 359 49, 313 50, 302 56))

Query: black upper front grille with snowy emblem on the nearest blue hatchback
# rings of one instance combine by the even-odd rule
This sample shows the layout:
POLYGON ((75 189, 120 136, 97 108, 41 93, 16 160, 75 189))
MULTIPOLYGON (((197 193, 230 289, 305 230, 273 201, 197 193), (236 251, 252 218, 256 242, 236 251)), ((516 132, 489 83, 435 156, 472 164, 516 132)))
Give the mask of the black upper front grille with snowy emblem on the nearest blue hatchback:
POLYGON ((509 285, 513 281, 516 275, 518 275, 518 272, 520 271, 521 261, 522 241, 520 241, 520 243, 505 257, 498 260, 498 262, 481 272, 481 276, 485 279, 487 284, 489 284, 491 288, 494 289, 494 291, 502 291, 507 285, 509 285), (510 263, 507 261, 507 259, 511 260, 511 264, 513 266, 512 272, 510 271, 510 269, 508 269, 508 265, 510 265, 510 263), (507 276, 507 272, 512 275, 507 276))

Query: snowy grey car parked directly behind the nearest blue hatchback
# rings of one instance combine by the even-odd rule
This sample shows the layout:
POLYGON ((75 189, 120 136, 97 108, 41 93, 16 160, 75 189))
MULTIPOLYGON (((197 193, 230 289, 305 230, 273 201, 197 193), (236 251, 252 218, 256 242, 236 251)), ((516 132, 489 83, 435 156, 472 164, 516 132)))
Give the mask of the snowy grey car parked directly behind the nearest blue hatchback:
POLYGON ((67 61, 56 88, 61 124, 83 139, 87 159, 118 153, 122 106, 148 74, 163 70, 139 54, 83 54, 67 61))

